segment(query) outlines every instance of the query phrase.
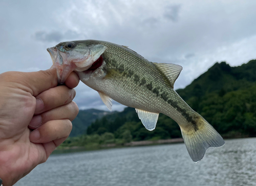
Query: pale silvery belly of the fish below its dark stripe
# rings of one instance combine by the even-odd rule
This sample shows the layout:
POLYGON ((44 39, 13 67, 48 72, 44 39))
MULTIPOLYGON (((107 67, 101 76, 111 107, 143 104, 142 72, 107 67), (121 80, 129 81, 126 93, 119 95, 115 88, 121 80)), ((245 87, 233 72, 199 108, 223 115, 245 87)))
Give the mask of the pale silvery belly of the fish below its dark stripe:
MULTIPOLYGON (((142 109, 149 112, 163 113, 181 125, 187 123, 185 118, 176 108, 172 107, 162 98, 157 97, 146 87, 131 83, 129 79, 116 80, 90 78, 89 81, 86 81, 82 79, 82 76, 80 79, 89 87, 103 92, 106 96, 109 96, 113 100, 125 106, 142 109)), ((172 94, 174 94, 175 97, 177 95, 174 90, 172 94)), ((176 99, 181 98, 177 95, 176 99)))

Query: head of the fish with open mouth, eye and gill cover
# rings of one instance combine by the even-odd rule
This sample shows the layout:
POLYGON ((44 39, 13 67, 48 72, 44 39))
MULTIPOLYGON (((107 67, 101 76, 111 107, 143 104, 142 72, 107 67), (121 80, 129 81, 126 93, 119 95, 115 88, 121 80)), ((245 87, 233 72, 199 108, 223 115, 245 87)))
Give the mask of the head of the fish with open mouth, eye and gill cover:
POLYGON ((53 65, 57 68, 58 83, 62 84, 72 71, 89 69, 104 53, 106 47, 90 44, 88 40, 60 42, 48 48, 53 65))

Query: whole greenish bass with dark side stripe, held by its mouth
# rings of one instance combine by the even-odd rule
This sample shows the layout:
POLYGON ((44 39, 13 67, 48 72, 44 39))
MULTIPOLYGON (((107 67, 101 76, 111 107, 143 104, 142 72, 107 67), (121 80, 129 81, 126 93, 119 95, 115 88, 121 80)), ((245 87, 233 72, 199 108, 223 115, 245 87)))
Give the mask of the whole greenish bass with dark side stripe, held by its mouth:
POLYGON ((124 45, 99 40, 60 42, 47 51, 60 84, 75 71, 84 84, 98 91, 109 110, 112 100, 135 108, 150 131, 155 129, 159 113, 175 120, 194 162, 199 162, 209 147, 225 144, 221 135, 174 90, 182 66, 151 62, 124 45))

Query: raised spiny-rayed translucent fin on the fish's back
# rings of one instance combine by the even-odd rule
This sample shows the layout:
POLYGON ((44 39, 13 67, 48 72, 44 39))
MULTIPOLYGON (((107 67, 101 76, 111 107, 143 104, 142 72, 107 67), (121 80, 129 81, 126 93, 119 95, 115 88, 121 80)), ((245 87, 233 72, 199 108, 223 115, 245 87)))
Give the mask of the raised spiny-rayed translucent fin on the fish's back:
POLYGON ((182 66, 172 63, 154 63, 158 69, 168 78, 174 88, 174 83, 182 71, 182 66))

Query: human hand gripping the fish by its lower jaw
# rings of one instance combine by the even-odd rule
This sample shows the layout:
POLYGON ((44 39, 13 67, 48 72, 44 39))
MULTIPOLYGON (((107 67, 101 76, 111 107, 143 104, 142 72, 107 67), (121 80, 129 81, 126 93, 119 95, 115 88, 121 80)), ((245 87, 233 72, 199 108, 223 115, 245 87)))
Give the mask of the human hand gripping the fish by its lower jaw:
POLYGON ((73 72, 57 86, 56 68, 0 74, 0 178, 13 185, 69 136, 78 113, 73 72), (34 129, 33 131, 31 129, 34 129), (31 132, 32 131, 32 132, 31 132))

